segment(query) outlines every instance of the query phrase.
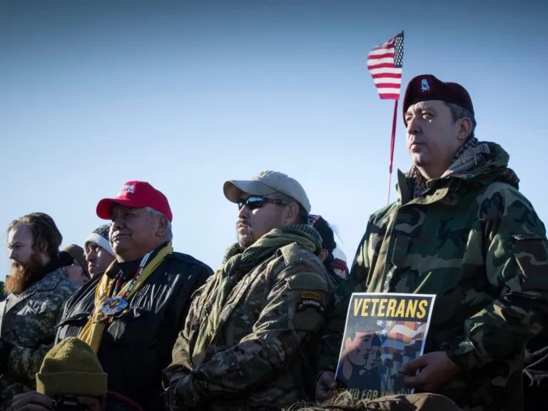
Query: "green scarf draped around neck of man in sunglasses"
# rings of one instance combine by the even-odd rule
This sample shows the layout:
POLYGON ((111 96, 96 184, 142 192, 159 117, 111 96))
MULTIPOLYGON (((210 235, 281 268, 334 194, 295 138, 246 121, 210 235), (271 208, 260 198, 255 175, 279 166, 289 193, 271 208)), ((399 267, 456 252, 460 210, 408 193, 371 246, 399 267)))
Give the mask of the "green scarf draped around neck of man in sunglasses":
POLYGON ((194 367, 203 362, 205 352, 217 331, 220 313, 238 282, 253 268, 272 258, 280 248, 292 243, 317 253, 321 249, 322 238, 310 225, 288 225, 284 228, 275 228, 245 250, 238 245, 230 248, 233 255, 225 256, 225 262, 218 268, 203 293, 205 303, 201 310, 201 321, 192 356, 194 367))

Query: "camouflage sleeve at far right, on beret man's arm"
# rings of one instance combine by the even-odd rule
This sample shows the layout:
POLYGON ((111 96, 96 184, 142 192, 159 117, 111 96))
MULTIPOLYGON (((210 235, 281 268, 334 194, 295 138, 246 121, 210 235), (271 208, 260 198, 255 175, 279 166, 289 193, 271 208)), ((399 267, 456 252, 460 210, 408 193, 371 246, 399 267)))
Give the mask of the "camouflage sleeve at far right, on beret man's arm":
POLYGON ((548 241, 532 205, 498 183, 477 201, 487 277, 493 290, 501 291, 466 321, 464 337, 446 350, 463 371, 522 352, 545 327, 548 313, 548 241))

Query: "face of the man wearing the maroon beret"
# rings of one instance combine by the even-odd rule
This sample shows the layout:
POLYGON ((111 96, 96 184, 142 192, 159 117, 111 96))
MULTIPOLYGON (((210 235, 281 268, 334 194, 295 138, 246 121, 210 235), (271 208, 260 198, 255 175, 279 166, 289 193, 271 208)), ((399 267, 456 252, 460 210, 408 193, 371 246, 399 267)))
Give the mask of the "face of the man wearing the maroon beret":
POLYGON ((405 113, 407 151, 413 163, 425 168, 445 168, 452 163, 462 141, 460 121, 453 121, 443 101, 421 101, 405 113))

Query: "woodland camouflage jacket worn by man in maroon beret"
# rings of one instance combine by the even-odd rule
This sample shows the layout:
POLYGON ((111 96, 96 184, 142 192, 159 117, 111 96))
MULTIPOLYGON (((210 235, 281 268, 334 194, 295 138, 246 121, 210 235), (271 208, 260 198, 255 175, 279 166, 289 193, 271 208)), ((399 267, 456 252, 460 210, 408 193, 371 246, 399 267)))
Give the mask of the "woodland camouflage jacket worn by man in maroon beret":
POLYGON ((524 345, 547 315, 548 242, 508 154, 487 146, 486 163, 428 181, 422 197, 399 172, 397 201, 371 215, 335 290, 321 370, 335 369, 352 292, 435 294, 425 352, 461 368, 439 393, 465 410, 523 409, 524 345))

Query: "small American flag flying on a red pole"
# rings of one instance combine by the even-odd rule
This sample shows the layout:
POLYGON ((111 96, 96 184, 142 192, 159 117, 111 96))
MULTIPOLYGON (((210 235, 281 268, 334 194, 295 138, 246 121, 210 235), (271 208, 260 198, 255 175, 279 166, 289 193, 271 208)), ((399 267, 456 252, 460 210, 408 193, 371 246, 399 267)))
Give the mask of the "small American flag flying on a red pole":
POLYGON ((371 73, 379 97, 398 100, 402 88, 403 31, 367 55, 367 70, 371 73))

